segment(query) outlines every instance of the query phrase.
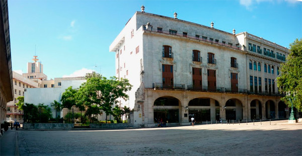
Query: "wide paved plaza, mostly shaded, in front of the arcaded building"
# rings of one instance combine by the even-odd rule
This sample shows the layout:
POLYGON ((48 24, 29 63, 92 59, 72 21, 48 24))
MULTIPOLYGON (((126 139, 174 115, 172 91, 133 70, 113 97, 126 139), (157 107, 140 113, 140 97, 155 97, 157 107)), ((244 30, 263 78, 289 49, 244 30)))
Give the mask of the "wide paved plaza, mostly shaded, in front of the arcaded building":
POLYGON ((17 134, 20 155, 302 155, 302 124, 286 122, 17 134))

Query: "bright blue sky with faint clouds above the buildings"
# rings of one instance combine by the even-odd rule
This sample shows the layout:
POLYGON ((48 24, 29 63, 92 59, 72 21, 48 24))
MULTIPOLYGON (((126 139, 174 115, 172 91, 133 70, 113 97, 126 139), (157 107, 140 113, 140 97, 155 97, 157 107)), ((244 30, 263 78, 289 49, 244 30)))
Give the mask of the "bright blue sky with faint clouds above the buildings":
POLYGON ((146 13, 173 17, 236 33, 249 32, 284 47, 302 38, 302 2, 294 0, 229 1, 17 1, 9 22, 13 70, 27 72, 36 54, 48 80, 96 71, 115 75, 109 46, 144 5, 146 13))

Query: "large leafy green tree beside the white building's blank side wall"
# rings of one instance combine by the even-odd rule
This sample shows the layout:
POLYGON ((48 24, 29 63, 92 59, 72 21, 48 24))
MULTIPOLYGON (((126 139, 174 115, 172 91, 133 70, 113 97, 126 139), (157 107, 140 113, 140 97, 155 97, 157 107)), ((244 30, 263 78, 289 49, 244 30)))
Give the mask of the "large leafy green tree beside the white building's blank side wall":
MULTIPOLYGON (((87 82, 83 83, 78 91, 78 103, 83 107, 86 106, 95 109, 94 113, 103 110, 107 115, 112 114, 112 106, 117 103, 118 98, 128 99, 127 91, 131 85, 127 79, 117 80, 116 77, 107 79, 100 74, 92 74, 88 77, 87 82), (96 105, 93 107, 93 105, 96 105)), ((92 112, 92 111, 91 111, 92 112)))

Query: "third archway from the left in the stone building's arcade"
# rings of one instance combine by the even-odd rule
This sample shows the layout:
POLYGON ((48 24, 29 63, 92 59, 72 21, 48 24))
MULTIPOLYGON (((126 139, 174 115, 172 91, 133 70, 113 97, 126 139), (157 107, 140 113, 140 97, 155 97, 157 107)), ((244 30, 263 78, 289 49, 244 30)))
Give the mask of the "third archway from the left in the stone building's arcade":
POLYGON ((226 100, 223 111, 225 111, 226 120, 242 120, 243 103, 239 99, 231 98, 226 100))

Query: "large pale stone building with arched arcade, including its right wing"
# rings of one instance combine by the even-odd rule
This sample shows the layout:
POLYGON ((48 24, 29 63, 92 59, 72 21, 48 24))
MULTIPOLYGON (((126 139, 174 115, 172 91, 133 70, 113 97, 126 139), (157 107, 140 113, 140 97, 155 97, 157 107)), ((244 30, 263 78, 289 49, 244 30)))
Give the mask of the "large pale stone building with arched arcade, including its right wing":
POLYGON ((134 108, 135 125, 288 116, 275 81, 287 48, 141 9, 109 47, 116 76, 133 85, 120 104, 134 108))

